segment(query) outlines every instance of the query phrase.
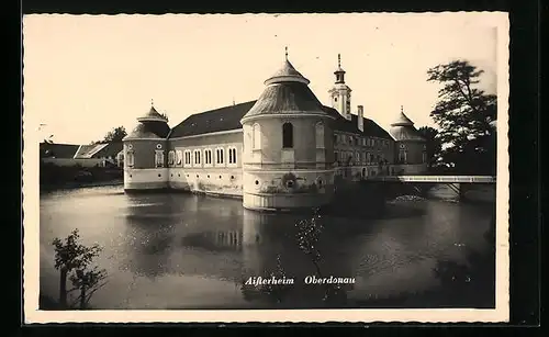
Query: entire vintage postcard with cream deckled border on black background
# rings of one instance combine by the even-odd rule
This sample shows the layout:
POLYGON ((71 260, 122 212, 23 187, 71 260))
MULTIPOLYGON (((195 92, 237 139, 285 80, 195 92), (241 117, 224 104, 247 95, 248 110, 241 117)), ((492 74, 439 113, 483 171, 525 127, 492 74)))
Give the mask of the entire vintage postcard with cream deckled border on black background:
POLYGON ((23 16, 24 312, 507 322, 503 12, 23 16))

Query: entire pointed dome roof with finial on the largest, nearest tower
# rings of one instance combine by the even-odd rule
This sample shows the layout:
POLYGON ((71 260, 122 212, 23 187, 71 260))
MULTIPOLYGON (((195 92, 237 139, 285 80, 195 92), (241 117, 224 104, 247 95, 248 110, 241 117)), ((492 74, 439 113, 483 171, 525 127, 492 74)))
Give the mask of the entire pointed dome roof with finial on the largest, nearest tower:
POLYGON ((328 116, 309 88, 310 81, 288 60, 288 52, 285 57, 281 69, 265 81, 267 88, 242 121, 266 114, 314 113, 328 116))

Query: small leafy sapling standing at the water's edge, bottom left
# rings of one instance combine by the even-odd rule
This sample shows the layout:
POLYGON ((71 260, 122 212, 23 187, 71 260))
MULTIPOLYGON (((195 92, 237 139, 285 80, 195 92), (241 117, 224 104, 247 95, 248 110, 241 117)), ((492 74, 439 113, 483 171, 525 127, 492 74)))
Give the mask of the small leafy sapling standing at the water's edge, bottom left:
MULTIPOLYGON (((89 284, 97 287, 96 283, 104 279, 105 276, 104 271, 98 274, 96 269, 92 269, 91 273, 88 269, 93 258, 101 251, 101 247, 98 245, 86 247, 79 243, 79 239, 78 229, 74 229, 64 240, 55 238, 52 243, 55 246, 55 268, 60 271, 59 304, 63 307, 67 307, 67 277, 71 272, 76 272, 76 277, 70 274, 72 283, 85 284, 85 287, 89 287, 89 284), (81 281, 75 281, 77 279, 81 279, 81 281)), ((88 299, 86 293, 83 297, 88 299)))

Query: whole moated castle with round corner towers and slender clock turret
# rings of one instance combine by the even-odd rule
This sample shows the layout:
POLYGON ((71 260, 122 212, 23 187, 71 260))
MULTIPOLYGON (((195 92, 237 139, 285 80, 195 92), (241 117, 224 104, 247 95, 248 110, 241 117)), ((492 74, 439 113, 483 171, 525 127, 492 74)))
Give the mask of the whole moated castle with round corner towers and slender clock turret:
POLYGON ((256 101, 195 113, 176 125, 155 106, 124 138, 126 191, 175 189, 243 199, 250 210, 317 206, 338 181, 425 172, 425 141, 401 113, 390 133, 351 111, 338 67, 325 106, 288 59, 256 101))

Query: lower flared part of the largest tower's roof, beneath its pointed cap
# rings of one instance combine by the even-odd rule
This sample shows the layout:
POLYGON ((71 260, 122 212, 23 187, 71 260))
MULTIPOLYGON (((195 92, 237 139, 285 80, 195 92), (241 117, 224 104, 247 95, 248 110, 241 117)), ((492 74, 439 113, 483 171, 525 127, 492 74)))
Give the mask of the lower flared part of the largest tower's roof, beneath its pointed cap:
POLYGON ((283 82, 265 88, 244 119, 261 114, 288 114, 307 111, 324 113, 323 105, 313 91, 304 83, 283 82))

